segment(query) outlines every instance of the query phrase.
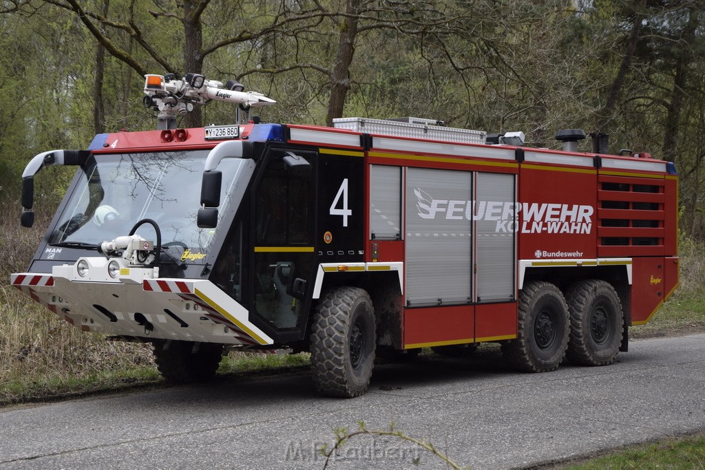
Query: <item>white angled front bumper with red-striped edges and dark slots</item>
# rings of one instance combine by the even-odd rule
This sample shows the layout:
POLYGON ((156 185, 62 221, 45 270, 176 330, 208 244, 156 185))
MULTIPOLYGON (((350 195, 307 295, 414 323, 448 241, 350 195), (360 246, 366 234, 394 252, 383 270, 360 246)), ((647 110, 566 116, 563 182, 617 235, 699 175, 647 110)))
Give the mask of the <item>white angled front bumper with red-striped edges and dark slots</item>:
POLYGON ((157 268, 123 268, 111 278, 109 259, 82 258, 85 276, 73 265, 49 273, 16 273, 11 284, 84 331, 145 340, 186 340, 230 345, 271 345, 250 323, 245 307, 214 283, 159 278, 157 268))

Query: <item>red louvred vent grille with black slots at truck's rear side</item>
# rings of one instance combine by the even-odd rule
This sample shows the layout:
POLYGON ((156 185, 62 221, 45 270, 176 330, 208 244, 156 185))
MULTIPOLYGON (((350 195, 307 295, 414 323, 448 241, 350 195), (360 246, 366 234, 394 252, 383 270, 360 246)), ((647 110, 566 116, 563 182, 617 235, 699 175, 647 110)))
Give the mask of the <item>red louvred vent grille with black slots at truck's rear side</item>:
POLYGON ((664 180, 599 176, 598 256, 664 254, 664 180))

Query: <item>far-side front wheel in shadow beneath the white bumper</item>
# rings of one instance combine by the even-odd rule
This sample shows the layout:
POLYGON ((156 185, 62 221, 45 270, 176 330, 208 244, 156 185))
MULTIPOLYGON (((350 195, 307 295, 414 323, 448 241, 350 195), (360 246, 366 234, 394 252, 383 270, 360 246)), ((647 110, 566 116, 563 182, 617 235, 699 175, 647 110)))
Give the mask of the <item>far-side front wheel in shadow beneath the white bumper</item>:
POLYGON ((212 342, 164 341, 154 344, 154 361, 161 376, 169 382, 205 382, 213 378, 223 345, 212 342))

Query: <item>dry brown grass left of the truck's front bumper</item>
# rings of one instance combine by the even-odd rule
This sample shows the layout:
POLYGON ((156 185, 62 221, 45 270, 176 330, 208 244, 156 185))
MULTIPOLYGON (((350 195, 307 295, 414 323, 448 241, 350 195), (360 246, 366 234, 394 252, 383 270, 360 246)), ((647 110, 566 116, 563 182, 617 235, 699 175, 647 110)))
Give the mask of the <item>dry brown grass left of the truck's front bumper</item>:
POLYGON ((8 390, 152 366, 148 345, 83 333, 10 286, 10 274, 27 269, 54 209, 37 204, 35 227, 26 229, 16 199, 0 202, 0 401, 8 390))

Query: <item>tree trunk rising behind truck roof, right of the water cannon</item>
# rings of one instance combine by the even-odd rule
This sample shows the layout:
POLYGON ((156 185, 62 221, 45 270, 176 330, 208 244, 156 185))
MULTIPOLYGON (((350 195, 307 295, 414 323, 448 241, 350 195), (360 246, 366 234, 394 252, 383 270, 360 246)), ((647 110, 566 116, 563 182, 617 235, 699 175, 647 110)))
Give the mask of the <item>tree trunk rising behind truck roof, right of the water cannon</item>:
POLYGON ((348 15, 341 22, 341 34, 338 37, 338 55, 331 73, 331 98, 328 102, 326 125, 333 125, 333 118, 343 116, 345 97, 350 90, 350 64, 355 54, 355 36, 357 36, 357 15, 360 10, 360 0, 346 0, 345 13, 348 15))

